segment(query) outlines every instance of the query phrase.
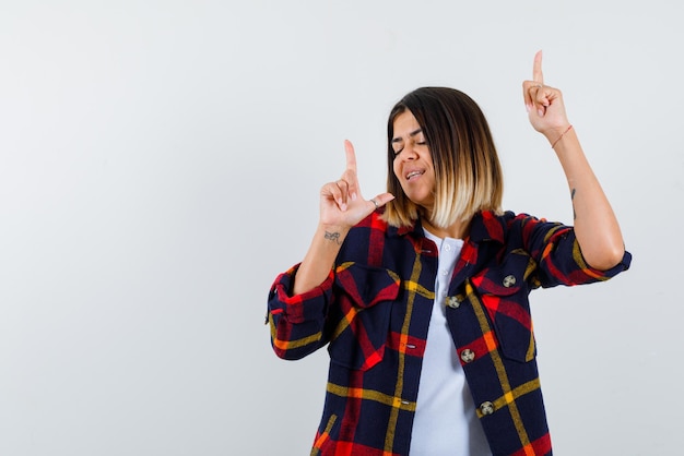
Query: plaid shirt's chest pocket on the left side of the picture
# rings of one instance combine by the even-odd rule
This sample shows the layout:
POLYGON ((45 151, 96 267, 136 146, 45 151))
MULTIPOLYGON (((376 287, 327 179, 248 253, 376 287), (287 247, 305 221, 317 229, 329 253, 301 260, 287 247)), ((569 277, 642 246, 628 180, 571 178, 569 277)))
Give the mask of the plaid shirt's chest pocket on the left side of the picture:
POLYGON ((399 284, 399 276, 389 269, 359 263, 337 267, 337 305, 331 310, 337 317, 328 346, 332 362, 368 370, 382 360, 399 284))

